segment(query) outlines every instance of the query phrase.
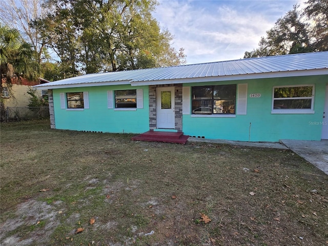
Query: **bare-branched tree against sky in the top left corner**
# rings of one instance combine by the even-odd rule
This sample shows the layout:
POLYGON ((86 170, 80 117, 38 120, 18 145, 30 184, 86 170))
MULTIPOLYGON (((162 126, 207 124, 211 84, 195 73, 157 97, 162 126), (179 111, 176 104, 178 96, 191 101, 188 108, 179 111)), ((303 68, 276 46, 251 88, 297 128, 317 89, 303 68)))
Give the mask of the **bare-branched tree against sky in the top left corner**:
POLYGON ((45 42, 39 30, 32 27, 34 19, 42 16, 46 10, 40 0, 0 0, 0 20, 9 28, 17 29, 35 52, 38 64, 42 63, 45 42))

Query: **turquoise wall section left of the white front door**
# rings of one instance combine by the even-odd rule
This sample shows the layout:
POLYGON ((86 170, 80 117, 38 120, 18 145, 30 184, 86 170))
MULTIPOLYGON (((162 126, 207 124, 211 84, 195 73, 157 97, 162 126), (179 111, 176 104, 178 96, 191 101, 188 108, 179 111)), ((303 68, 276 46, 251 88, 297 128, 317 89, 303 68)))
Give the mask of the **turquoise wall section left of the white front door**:
POLYGON ((142 133, 149 130, 148 86, 96 86, 53 89, 55 127, 63 130, 110 133, 142 133), (143 89, 144 108, 136 111, 108 109, 107 91, 143 89), (60 108, 60 93, 89 92, 89 109, 71 111, 60 108))

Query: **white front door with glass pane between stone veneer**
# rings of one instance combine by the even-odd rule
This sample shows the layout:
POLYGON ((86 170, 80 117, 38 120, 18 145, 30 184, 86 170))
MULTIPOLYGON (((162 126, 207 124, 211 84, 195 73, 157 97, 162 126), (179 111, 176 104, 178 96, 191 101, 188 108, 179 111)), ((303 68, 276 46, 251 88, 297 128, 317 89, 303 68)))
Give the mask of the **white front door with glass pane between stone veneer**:
POLYGON ((174 129, 174 87, 156 88, 157 128, 174 129))

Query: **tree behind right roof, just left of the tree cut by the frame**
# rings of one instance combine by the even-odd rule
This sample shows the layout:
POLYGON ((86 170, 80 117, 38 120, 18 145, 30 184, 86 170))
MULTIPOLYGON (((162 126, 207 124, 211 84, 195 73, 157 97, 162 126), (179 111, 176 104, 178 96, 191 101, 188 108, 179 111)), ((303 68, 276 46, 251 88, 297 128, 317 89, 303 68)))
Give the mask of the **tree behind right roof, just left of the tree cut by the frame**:
POLYGON ((279 18, 275 26, 261 37, 259 48, 245 52, 244 58, 311 52, 308 27, 302 22, 298 5, 279 18))

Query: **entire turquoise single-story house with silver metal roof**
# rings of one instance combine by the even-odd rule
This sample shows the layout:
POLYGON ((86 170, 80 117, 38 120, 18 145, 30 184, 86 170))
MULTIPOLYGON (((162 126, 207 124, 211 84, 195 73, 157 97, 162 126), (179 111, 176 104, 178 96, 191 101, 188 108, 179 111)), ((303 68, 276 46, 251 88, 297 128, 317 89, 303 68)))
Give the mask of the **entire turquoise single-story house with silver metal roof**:
POLYGON ((49 91, 55 129, 328 139, 328 52, 87 74, 35 88, 49 91))

